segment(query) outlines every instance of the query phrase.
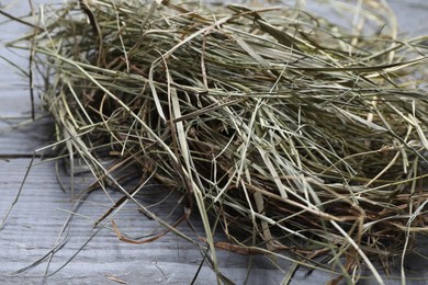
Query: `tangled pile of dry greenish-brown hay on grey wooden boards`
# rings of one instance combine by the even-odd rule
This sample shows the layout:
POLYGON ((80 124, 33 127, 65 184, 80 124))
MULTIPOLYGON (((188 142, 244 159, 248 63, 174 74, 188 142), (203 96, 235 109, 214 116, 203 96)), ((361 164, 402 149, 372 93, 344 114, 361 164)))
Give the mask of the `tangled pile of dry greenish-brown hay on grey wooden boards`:
POLYGON ((123 189, 110 169, 132 166, 180 191, 216 271, 227 248, 380 281, 371 260, 426 230, 423 38, 295 9, 79 2, 45 9, 29 37, 58 140, 100 181, 123 189))

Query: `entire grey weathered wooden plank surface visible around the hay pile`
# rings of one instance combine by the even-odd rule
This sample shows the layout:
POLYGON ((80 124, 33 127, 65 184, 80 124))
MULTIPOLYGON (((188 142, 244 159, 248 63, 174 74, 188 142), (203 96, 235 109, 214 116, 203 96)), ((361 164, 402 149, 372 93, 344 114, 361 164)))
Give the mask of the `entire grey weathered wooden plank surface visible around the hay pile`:
MULTIPOLYGON (((27 13, 26 1, 11 2, 13 4, 8 9, 9 12, 27 13)), ((309 9, 324 11, 314 1, 306 2, 309 9)), ((391 0, 388 3, 397 13, 402 32, 426 33, 428 29, 426 1, 391 0)), ((5 19, 0 15, 0 22, 3 21, 5 19)), ((337 21, 346 23, 346 16, 337 16, 337 21)), ((24 33, 25 27, 13 23, 7 27, 3 25, 1 31, 2 45, 24 33)), ((0 55, 24 69, 27 68, 25 53, 16 54, 1 46, 0 55)), ((47 145, 53 139, 54 128, 48 118, 29 123, 31 104, 27 82, 2 60, 0 68, 0 218, 2 218, 15 198, 34 149, 47 145), (14 127, 16 125, 20 127, 14 127)), ((37 114, 41 115, 40 112, 37 114)), ((52 259, 48 272, 54 272, 67 263, 89 241, 79 254, 48 278, 44 278, 47 262, 13 275, 13 272, 32 264, 53 249, 74 205, 69 201, 70 193, 64 193, 59 187, 54 163, 40 162, 41 160, 36 158, 19 203, 0 231, 0 284, 117 284, 110 278, 111 276, 127 284, 188 284, 192 281, 203 256, 190 242, 167 235, 151 243, 129 244, 120 242, 114 231, 109 228, 100 230, 92 228, 93 219, 98 219, 112 205, 101 191, 91 194, 88 202, 78 209, 67 236, 67 243, 52 259), (94 233, 97 235, 93 236, 94 233)), ((67 180, 66 176, 64 179, 67 180)), ((81 181, 76 191, 89 183, 88 180, 81 181)), ((138 197, 145 205, 153 203, 154 195, 168 194, 156 187, 148 189, 145 193, 147 195, 138 197)), ((114 191, 110 191, 109 194, 113 200, 119 197, 114 191)), ((171 200, 156 210, 167 215, 176 204, 174 200, 171 200)), ((172 216, 179 215, 180 210, 172 216)), ((126 205, 114 220, 121 230, 134 237, 148 235, 156 229, 156 223, 139 214, 137 207, 131 204, 126 205)), ((194 223, 195 229, 202 235, 203 230, 196 218, 194 223)), ((192 236, 185 226, 181 229, 192 236)), ((237 284, 243 284, 250 264, 248 258, 226 251, 218 251, 218 254, 222 260, 222 272, 237 284)), ((252 262, 257 269, 251 270, 248 284, 280 284, 283 273, 274 270, 268 259, 256 256, 252 262)), ((424 259, 410 256, 407 266, 410 275, 428 278, 426 270, 428 262, 424 259)), ((328 273, 315 272, 307 275, 306 270, 300 270, 293 284, 323 284, 330 278, 331 275, 328 273)), ((203 266, 196 284, 213 283, 214 274, 207 266, 203 266)), ((373 284, 371 281, 365 283, 373 284)), ((398 284, 398 281, 391 280, 388 283, 398 284)))

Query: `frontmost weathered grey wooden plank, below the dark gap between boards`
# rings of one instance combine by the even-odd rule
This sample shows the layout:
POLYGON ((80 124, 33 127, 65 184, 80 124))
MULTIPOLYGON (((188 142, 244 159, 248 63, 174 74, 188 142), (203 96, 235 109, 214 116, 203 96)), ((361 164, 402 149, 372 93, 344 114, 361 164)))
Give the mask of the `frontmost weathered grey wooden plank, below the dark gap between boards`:
MULTIPOLYGON (((1 216, 14 200, 29 163, 29 159, 0 160, 0 181, 3 181, 2 200, 0 201, 1 216)), ((54 246, 68 216, 67 210, 70 210, 71 207, 71 203, 68 202, 69 193, 63 193, 58 189, 57 181, 52 175, 52 169, 53 163, 42 163, 32 168, 20 201, 1 231, 1 284, 27 281, 29 278, 40 281, 43 276, 46 264, 23 275, 14 277, 8 275, 46 254, 54 246)), ((138 197, 145 205, 151 205, 155 202, 154 198, 159 198, 159 194, 160 197, 167 194, 165 191, 159 193, 159 189, 156 187, 145 192, 146 195, 138 197)), ((117 192, 109 192, 109 194, 114 200, 120 196, 117 192)), ((169 209, 176 206, 174 204, 177 204, 177 200, 167 201, 157 210, 167 215, 169 209)), ((111 202, 101 191, 93 193, 88 202, 83 203, 79 208, 79 216, 72 221, 67 244, 53 259, 50 264, 53 271, 67 262, 90 239, 91 235, 97 231, 91 227, 93 220, 105 213, 110 206, 111 202)), ((173 213, 172 219, 181 215, 181 210, 179 208, 177 213, 173 213)), ((147 219, 132 204, 123 208, 114 217, 114 220, 121 230, 134 237, 147 235, 157 228, 156 221, 147 219)), ((111 224, 108 223, 108 226, 111 224)), ((194 220, 194 226, 203 235, 198 219, 194 220)), ((185 225, 180 228, 194 238, 185 225)), ((238 284, 243 283, 247 273, 247 256, 219 251, 219 258, 224 274, 238 284)), ((129 244, 119 241, 113 230, 102 229, 69 265, 49 281, 55 283, 55 281, 65 280, 68 284, 101 283, 105 281, 105 275, 111 274, 128 282, 128 284, 142 284, 142 281, 144 284, 157 284, 160 281, 188 284, 196 273, 202 259, 194 246, 174 235, 167 235, 158 241, 147 244, 129 244)), ((252 278, 257 280, 263 276, 263 278, 267 277, 267 281, 271 280, 272 283, 281 281, 281 274, 274 271, 266 260, 256 258, 255 262, 259 262, 260 266, 252 272, 252 278)), ((209 267, 204 266, 198 281, 198 284, 207 284, 207 282, 215 281, 215 276, 209 267)))

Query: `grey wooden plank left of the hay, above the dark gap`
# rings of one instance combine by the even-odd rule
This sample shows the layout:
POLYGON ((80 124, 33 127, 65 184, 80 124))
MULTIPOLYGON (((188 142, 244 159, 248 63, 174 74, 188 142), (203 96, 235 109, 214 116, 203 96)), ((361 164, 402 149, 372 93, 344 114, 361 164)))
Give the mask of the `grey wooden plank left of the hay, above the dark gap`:
MULTIPOLYGON (((41 1, 33 1, 34 5, 41 1)), ((1 9, 13 15, 30 14, 27 1, 3 1, 1 9)), ((32 156, 38 147, 53 138, 53 123, 48 118, 31 122, 32 102, 30 99, 29 52, 4 48, 3 45, 29 32, 29 27, 9 21, 0 15, 0 156, 32 156), (15 65, 23 71, 21 72, 15 65)), ((37 116, 41 116, 41 101, 35 93, 37 116)))

